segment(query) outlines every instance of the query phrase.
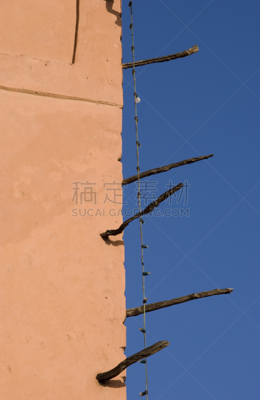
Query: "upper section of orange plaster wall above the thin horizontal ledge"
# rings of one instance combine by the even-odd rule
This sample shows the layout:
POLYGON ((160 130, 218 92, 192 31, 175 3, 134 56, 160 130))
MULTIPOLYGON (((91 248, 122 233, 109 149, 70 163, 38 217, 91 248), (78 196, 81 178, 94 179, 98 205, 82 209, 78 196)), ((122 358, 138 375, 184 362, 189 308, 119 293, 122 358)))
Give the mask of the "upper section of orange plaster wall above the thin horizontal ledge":
MULTIPOLYGON (((122 106, 121 19, 118 16, 120 1, 80 0, 79 4, 76 61, 71 64, 76 0, 52 2, 3 0, 1 2, 0 86, 83 97, 92 101, 101 100, 122 106), (41 30, 42 24, 26 26, 28 3, 34 4, 34 20, 43 18, 46 22, 44 29, 41 30), (72 6, 66 6, 64 9, 63 3, 69 3, 72 6), (16 6, 14 7, 13 4, 16 6), (42 4, 46 10, 44 14, 41 12, 42 4), (111 6, 113 13, 107 10, 107 8, 110 10, 111 6), (23 18, 22 26, 21 23, 18 26, 25 29, 24 34, 19 32, 14 22, 10 24, 9 19, 6 18, 6 13, 11 15, 13 8, 18 8, 17 12, 20 13, 20 18, 23 18), (23 11, 24 8, 26 11, 23 11), (70 9, 73 9, 73 12, 70 9), (57 32, 56 28, 54 31, 53 28, 57 21, 60 24, 62 21, 60 32, 57 32), (47 34, 46 29, 49 29, 47 34), (31 43, 30 38, 35 34, 37 37, 45 36, 43 39, 40 38, 39 43, 31 43), (5 43, 6 36, 8 40, 5 43), (24 36, 26 36, 26 41, 24 36), (44 45, 39 51, 41 42, 44 45), (46 42, 50 45, 48 51, 46 42), (17 50, 19 46, 20 51, 17 50), (28 54, 24 53, 25 49, 29 50, 28 54)), ((33 18, 30 17, 31 19, 33 18)))

